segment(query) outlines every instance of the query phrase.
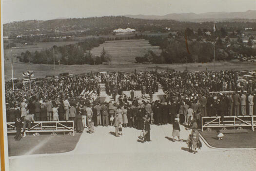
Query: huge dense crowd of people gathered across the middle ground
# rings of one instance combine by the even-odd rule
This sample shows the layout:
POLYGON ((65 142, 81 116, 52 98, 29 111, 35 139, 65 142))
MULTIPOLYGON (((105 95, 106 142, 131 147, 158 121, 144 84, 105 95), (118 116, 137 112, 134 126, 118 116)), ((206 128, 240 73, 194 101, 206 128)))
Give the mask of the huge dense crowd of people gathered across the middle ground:
POLYGON ((205 116, 256 115, 256 80, 239 82, 239 76, 235 70, 91 73, 48 80, 31 89, 6 87, 7 121, 21 118, 26 127, 33 120, 74 120, 78 132, 88 127, 93 133, 98 125, 143 130, 145 119, 161 125, 178 118, 180 124, 200 126, 205 116), (113 102, 99 101, 99 84, 113 102), (165 95, 153 101, 159 85, 165 95), (132 90, 129 97, 122 93, 127 90, 132 90), (142 97, 134 90, 141 90, 142 97))

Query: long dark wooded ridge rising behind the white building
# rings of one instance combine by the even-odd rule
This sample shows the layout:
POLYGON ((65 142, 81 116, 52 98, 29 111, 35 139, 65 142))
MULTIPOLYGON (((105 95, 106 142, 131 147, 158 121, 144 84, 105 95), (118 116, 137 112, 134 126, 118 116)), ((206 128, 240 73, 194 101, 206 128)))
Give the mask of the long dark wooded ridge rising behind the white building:
MULTIPOLYGON (((3 35, 15 38, 17 35, 47 34, 48 37, 58 36, 87 36, 87 35, 109 35, 114 29, 133 28, 138 32, 166 32, 165 28, 172 31, 181 31, 190 27, 212 29, 213 22, 179 22, 175 20, 137 19, 121 16, 89 17, 53 19, 47 21, 26 20, 3 24, 3 35)), ((256 29, 255 22, 218 22, 218 27, 226 28, 227 31, 244 30, 244 28, 256 29)), ((44 35, 45 36, 45 35, 44 35)))

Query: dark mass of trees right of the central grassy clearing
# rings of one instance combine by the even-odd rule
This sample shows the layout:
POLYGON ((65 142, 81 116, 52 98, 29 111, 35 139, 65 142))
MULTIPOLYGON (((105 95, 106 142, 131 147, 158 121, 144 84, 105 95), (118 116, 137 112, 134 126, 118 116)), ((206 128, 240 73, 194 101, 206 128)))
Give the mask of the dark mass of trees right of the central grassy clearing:
MULTIPOLYGON (((207 30, 205 30, 207 31, 207 30)), ((214 59, 232 60, 235 56, 256 56, 256 48, 252 46, 253 36, 249 38, 247 44, 242 42, 239 35, 236 40, 231 40, 233 34, 228 34, 221 28, 211 35, 206 35, 200 29, 194 32, 187 28, 183 33, 177 32, 175 36, 169 34, 168 37, 143 36, 149 40, 153 46, 159 46, 162 50, 160 55, 153 51, 148 51, 144 56, 136 57, 138 63, 172 64, 191 62, 212 62, 214 59), (187 39, 187 42, 186 42, 187 39)))

